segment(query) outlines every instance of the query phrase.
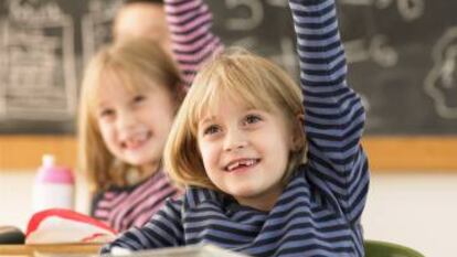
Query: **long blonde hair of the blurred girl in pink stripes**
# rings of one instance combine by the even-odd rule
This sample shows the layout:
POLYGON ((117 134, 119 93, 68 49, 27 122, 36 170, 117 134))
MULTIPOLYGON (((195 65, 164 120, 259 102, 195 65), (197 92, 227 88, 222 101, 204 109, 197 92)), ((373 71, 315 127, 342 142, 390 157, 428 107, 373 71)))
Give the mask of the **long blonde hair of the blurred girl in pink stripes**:
POLYGON ((167 87, 177 103, 183 98, 180 75, 172 60, 155 42, 130 39, 102 49, 88 63, 81 90, 78 113, 78 170, 94 193, 110 185, 127 184, 127 163, 117 163, 102 138, 96 106, 99 87, 108 78, 119 79, 129 92, 137 93, 153 85, 167 87))

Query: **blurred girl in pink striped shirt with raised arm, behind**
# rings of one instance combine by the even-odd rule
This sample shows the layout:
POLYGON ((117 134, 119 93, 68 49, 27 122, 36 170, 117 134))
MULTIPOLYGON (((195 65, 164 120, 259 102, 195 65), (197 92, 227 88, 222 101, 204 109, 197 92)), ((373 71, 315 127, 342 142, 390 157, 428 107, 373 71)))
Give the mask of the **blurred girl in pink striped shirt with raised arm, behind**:
POLYGON ((92 215, 118 232, 144 225, 179 194, 162 172, 163 146, 185 87, 221 47, 201 2, 171 4, 167 19, 176 62, 158 43, 129 38, 100 50, 83 79, 79 170, 91 188, 92 215), (196 22, 181 28, 187 10, 196 22))

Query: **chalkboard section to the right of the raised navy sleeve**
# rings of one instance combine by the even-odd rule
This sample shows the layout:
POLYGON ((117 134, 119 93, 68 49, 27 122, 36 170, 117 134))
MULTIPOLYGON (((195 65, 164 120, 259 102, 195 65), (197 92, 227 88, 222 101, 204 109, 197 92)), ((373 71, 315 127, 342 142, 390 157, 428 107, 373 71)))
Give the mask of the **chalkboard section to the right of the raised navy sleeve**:
POLYGON ((339 0, 368 131, 457 133, 457 10, 446 0, 339 0))

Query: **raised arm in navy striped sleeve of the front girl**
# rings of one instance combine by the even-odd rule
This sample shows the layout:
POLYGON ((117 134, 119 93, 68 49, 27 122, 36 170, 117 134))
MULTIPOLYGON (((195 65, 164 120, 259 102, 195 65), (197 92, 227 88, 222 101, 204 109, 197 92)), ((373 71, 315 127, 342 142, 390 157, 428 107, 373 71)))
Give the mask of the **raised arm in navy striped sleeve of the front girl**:
POLYGON ((300 61, 309 180, 348 217, 360 218, 369 168, 360 144, 365 113, 347 85, 334 0, 289 0, 300 61))

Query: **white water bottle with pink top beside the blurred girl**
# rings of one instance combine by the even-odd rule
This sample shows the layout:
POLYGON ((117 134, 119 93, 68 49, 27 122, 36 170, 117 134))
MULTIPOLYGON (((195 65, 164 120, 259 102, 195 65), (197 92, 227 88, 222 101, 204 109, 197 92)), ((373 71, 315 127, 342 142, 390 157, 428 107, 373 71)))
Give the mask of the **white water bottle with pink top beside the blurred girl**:
POLYGON ((44 154, 33 186, 33 212, 59 207, 73 210, 74 178, 72 170, 55 165, 52 154, 44 154))

